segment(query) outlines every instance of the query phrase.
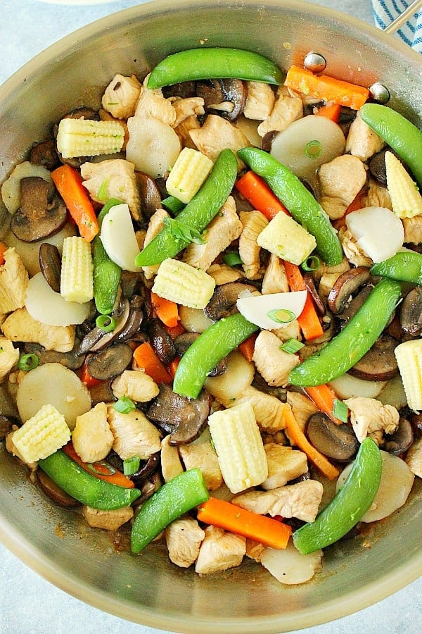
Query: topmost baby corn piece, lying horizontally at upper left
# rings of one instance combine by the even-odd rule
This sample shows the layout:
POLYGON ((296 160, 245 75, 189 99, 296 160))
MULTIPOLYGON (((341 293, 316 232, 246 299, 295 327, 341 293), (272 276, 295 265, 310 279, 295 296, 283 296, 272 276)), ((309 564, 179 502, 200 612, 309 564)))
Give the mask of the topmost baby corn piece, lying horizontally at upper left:
POLYGON ((63 159, 115 154, 123 141, 124 128, 118 121, 65 118, 58 124, 57 149, 63 159))

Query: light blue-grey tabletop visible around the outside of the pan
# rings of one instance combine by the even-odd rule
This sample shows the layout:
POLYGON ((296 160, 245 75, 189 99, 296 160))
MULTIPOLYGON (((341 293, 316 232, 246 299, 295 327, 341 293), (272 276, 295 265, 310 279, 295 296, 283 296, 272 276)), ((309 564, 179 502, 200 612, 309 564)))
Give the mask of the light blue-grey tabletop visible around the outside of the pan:
MULTIPOLYGON (((94 6, 71 4, 72 0, 69 0, 69 5, 37 0, 0 0, 0 83, 60 37, 103 15, 141 2, 126 0, 94 6)), ((315 4, 335 7, 372 22, 370 0, 325 0, 315 4)), ((422 578, 359 613, 298 631, 302 634, 368 634, 380 631, 416 634, 421 630, 422 578)), ((160 631, 117 619, 66 595, 0 545, 0 633, 159 634, 160 631)))

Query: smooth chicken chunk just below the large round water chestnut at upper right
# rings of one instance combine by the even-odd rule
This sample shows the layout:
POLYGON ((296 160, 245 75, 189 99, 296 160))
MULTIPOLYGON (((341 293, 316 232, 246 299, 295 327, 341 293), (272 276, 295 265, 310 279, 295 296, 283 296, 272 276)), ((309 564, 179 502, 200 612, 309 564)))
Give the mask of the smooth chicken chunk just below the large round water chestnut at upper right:
POLYGON ((331 220, 341 218, 366 182, 364 163, 357 156, 343 154, 321 165, 318 172, 321 207, 331 220))

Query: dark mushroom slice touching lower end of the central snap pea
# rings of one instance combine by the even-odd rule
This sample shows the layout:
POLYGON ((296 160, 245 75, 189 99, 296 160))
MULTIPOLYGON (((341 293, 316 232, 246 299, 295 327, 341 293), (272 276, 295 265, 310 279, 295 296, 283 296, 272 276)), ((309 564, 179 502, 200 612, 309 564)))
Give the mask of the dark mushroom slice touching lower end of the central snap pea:
POLYGON ((207 425, 210 396, 203 390, 197 399, 182 397, 169 385, 160 385, 160 394, 153 399, 146 416, 165 434, 170 434, 169 445, 188 445, 196 440, 207 425))

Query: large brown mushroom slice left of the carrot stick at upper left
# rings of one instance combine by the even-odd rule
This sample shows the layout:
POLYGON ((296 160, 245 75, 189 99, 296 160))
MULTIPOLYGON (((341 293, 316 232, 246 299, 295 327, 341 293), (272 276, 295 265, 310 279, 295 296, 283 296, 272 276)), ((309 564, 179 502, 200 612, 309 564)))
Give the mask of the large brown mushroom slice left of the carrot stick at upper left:
POLYGON ((23 242, 34 242, 58 232, 66 222, 66 208, 51 183, 39 176, 20 181, 20 207, 11 230, 23 242))

